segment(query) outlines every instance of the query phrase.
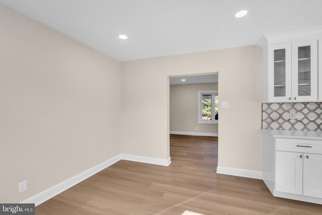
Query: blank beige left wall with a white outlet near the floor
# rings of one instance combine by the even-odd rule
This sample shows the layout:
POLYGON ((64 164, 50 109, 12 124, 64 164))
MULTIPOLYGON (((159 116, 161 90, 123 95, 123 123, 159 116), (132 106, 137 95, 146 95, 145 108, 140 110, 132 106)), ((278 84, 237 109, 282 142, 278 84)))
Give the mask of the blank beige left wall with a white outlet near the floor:
POLYGON ((0 202, 121 153, 118 61, 2 4, 0 35, 0 202))

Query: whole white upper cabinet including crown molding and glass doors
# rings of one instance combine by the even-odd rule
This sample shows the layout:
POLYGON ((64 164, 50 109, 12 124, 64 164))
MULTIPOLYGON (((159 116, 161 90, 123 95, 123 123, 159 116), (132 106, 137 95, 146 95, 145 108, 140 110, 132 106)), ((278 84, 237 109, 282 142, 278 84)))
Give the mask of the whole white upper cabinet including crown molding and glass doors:
POLYGON ((260 45, 264 103, 322 101, 322 27, 265 35, 260 45))

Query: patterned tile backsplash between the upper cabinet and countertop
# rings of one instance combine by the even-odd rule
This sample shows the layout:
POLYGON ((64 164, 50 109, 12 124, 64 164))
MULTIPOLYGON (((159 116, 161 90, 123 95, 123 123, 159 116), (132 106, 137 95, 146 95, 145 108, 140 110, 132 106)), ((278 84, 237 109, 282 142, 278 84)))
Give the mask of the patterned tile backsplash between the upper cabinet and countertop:
POLYGON ((262 128, 322 131, 322 103, 263 103, 262 128), (295 111, 295 119, 290 119, 295 111))

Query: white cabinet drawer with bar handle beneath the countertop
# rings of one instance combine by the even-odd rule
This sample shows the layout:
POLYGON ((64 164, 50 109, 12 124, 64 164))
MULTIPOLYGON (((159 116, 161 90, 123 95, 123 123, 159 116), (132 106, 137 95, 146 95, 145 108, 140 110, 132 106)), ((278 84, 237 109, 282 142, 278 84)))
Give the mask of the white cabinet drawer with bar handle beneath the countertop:
POLYGON ((322 154, 322 140, 276 138, 276 150, 322 154))

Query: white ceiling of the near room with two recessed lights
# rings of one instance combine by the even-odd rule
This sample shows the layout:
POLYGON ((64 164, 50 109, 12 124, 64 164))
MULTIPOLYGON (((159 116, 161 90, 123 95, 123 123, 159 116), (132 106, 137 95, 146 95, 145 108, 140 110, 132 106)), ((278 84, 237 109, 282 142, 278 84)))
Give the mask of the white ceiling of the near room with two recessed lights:
POLYGON ((322 25, 321 0, 0 0, 119 61, 258 44, 322 25), (244 18, 234 18, 239 10, 244 18), (128 36, 120 40, 119 34, 128 36))

